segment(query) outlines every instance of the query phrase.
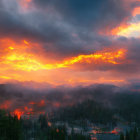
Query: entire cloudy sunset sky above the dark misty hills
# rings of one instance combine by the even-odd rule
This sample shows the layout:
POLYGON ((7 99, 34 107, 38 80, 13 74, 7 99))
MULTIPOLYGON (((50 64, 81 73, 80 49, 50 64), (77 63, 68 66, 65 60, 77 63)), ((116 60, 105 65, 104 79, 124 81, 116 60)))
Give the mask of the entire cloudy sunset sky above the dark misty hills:
POLYGON ((140 83, 139 53, 140 0, 0 0, 1 84, 140 83))

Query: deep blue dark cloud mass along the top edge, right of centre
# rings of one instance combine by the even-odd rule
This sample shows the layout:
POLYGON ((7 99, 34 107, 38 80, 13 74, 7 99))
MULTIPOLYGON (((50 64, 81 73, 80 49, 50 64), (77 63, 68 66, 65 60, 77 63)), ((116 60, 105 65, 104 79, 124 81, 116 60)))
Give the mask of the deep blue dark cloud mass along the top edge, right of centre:
POLYGON ((34 0, 41 7, 52 7, 71 24, 94 30, 119 25, 131 16, 134 3, 124 0, 34 0))

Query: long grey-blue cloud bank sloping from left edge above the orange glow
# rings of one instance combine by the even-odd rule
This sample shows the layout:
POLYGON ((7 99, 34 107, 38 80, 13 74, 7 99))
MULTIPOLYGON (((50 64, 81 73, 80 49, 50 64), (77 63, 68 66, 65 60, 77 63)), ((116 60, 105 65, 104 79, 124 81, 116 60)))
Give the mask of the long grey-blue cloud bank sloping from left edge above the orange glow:
POLYGON ((25 16, 20 15, 18 11, 10 13, 4 9, 0 9, 0 18, 1 38, 27 39, 42 44, 46 52, 56 54, 82 52, 84 41, 75 39, 72 36, 75 28, 63 21, 47 19, 40 12, 25 16), (48 46, 48 43, 52 44, 51 47, 48 46))

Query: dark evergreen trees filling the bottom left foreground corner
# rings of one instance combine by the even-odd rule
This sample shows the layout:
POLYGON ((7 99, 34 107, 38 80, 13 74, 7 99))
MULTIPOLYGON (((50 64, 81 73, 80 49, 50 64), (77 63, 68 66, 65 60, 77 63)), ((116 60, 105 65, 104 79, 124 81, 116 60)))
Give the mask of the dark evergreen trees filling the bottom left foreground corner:
POLYGON ((65 126, 56 127, 48 125, 45 115, 40 115, 37 120, 20 119, 8 115, 0 110, 0 140, 91 140, 82 133, 77 134, 72 129, 67 133, 65 126))

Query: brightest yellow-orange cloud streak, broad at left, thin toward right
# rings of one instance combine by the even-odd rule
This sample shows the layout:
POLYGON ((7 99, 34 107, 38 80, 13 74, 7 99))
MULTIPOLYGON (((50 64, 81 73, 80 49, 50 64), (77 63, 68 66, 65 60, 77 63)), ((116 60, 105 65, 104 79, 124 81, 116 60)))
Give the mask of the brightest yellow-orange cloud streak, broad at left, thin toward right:
MULTIPOLYGON (((7 45, 7 44, 6 44, 7 45)), ((71 67, 77 63, 110 63, 110 64, 119 64, 119 60, 124 58, 125 50, 119 49, 115 51, 102 51, 96 52, 88 55, 78 55, 76 57, 72 57, 66 59, 62 62, 56 63, 48 63, 44 64, 37 58, 32 52, 27 52, 28 48, 32 48, 32 46, 28 46, 29 43, 24 40, 24 44, 14 44, 5 47, 5 53, 1 59, 1 64, 7 65, 8 68, 13 70, 22 70, 22 71, 38 71, 38 70, 51 70, 58 68, 66 68, 71 67), (8 50, 9 49, 9 50, 8 50)), ((47 59, 47 58, 44 58, 47 59)))

